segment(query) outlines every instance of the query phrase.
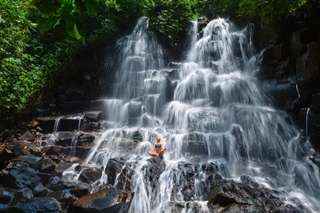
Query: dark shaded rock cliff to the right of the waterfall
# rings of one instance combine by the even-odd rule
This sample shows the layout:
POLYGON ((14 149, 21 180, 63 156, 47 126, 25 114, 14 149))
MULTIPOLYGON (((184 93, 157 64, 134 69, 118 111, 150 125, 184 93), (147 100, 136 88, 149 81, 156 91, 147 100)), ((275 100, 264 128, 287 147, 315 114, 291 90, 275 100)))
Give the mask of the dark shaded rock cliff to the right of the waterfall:
POLYGON ((306 139, 320 149, 320 13, 288 17, 283 24, 256 27, 256 44, 263 51, 264 88, 274 104, 289 112, 306 139))

